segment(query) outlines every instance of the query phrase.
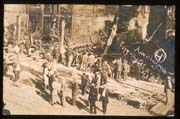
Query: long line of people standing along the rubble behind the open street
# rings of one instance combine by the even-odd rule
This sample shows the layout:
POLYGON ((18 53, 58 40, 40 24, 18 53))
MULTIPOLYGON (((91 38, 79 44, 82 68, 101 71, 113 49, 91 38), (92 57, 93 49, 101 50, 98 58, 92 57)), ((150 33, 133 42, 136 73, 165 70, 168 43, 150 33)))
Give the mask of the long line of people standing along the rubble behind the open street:
MULTIPOLYGON (((114 80, 117 82, 120 82, 121 80, 127 80, 128 76, 135 77, 137 80, 141 80, 144 77, 148 79, 153 78, 149 77, 149 75, 147 77, 147 75, 145 75, 145 70, 142 76, 143 78, 137 77, 139 75, 135 73, 135 70, 139 68, 138 71, 140 72, 140 68, 142 66, 134 66, 132 63, 130 64, 130 62, 128 62, 125 58, 122 59, 121 57, 117 57, 113 61, 104 61, 102 66, 100 66, 101 58, 91 51, 76 51, 73 48, 67 47, 63 53, 59 53, 58 45, 55 44, 52 48, 47 48, 43 46, 40 39, 33 39, 32 36, 29 38, 29 40, 21 40, 20 43, 16 45, 5 43, 4 45, 6 47, 4 49, 4 54, 11 54, 12 52, 15 52, 15 55, 18 55, 22 53, 27 57, 32 57, 35 60, 37 57, 41 56, 41 58, 47 60, 47 62, 61 63, 67 67, 75 67, 80 71, 90 73, 100 72, 102 79, 104 79, 102 80, 101 84, 104 84, 104 82, 106 83, 107 77, 114 78, 114 80)), ((6 67, 7 58, 4 59, 4 70, 6 70, 5 72, 8 72, 15 81, 18 80, 19 72, 21 70, 18 61, 14 63, 15 65, 9 65, 6 67)))

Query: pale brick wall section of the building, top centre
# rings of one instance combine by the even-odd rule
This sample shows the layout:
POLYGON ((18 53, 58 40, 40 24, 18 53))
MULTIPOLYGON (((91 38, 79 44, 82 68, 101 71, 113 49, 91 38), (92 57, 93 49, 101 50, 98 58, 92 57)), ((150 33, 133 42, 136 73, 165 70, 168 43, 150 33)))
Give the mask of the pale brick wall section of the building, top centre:
MULTIPOLYGON (((114 6, 115 7, 115 6, 114 6)), ((73 6, 73 42, 89 43, 95 41, 98 31, 105 27, 105 20, 113 20, 114 14, 106 13, 105 5, 73 6)))

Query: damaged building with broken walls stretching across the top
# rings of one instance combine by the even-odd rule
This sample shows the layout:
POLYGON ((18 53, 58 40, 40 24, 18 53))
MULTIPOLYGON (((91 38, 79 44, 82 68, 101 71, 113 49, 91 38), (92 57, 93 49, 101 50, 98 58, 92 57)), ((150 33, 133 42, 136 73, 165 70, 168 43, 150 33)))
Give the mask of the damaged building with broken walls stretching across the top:
MULTIPOLYGON (((102 30, 107 32, 108 37, 111 31, 109 27, 112 27, 115 17, 118 17, 117 33, 133 30, 138 26, 137 32, 140 35, 138 39, 144 41, 152 39, 151 36, 159 25, 161 27, 153 39, 165 39, 165 31, 168 27, 165 24, 169 12, 164 6, 90 5, 87 7, 87 5, 34 4, 20 5, 21 7, 18 6, 16 10, 12 10, 9 6, 16 7, 5 5, 4 16, 9 20, 5 21, 5 27, 17 22, 17 19, 11 20, 11 17, 20 16, 24 31, 30 33, 41 31, 44 37, 48 37, 54 28, 58 33, 56 35, 61 37, 61 21, 65 20, 65 37, 74 43, 95 42, 102 30)), ((168 21, 168 24, 172 22, 172 20, 168 21)))

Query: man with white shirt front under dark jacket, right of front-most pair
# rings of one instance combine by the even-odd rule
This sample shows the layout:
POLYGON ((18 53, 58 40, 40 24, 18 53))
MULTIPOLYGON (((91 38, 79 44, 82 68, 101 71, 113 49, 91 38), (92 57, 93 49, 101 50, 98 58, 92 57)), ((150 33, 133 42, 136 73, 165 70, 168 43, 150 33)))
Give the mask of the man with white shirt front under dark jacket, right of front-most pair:
POLYGON ((100 100, 102 101, 103 113, 106 114, 107 104, 109 103, 109 90, 103 85, 103 91, 101 93, 100 100))

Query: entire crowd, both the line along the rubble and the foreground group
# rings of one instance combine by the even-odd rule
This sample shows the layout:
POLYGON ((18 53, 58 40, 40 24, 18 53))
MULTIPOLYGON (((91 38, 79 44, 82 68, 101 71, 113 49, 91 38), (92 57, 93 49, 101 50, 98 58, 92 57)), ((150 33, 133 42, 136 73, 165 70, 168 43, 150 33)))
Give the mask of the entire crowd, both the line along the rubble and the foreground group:
MULTIPOLYGON (((14 53, 17 56, 16 62, 10 64, 6 62, 8 58, 4 57, 4 74, 8 75, 12 81, 18 81, 21 72, 19 54, 32 57, 34 60, 37 56, 41 56, 42 59, 45 59, 42 65, 44 91, 51 97, 51 104, 66 105, 66 90, 70 87, 72 89, 72 105, 77 105, 77 97, 80 93, 81 95, 88 94, 90 113, 95 114, 97 113, 97 101, 102 101, 102 111, 104 114, 106 113, 109 102, 109 90, 106 86, 108 79, 112 78, 120 83, 123 80, 128 80, 129 76, 138 76, 134 70, 140 71, 141 67, 136 66, 133 69, 133 65, 121 57, 117 57, 113 61, 102 61, 91 51, 76 51, 70 47, 65 48, 63 53, 59 53, 57 45, 53 45, 52 49, 45 48, 41 39, 34 39, 32 35, 30 35, 29 40, 23 39, 19 44, 14 45, 7 42, 4 46, 6 46, 4 54, 14 53), (81 83, 79 84, 77 77, 73 75, 71 86, 68 86, 65 77, 57 71, 55 66, 51 65, 52 62, 61 63, 67 67, 75 67, 82 71, 81 83)), ((153 77, 148 78, 154 79, 153 77)), ((140 80, 141 78, 136 77, 136 79, 140 80)))

